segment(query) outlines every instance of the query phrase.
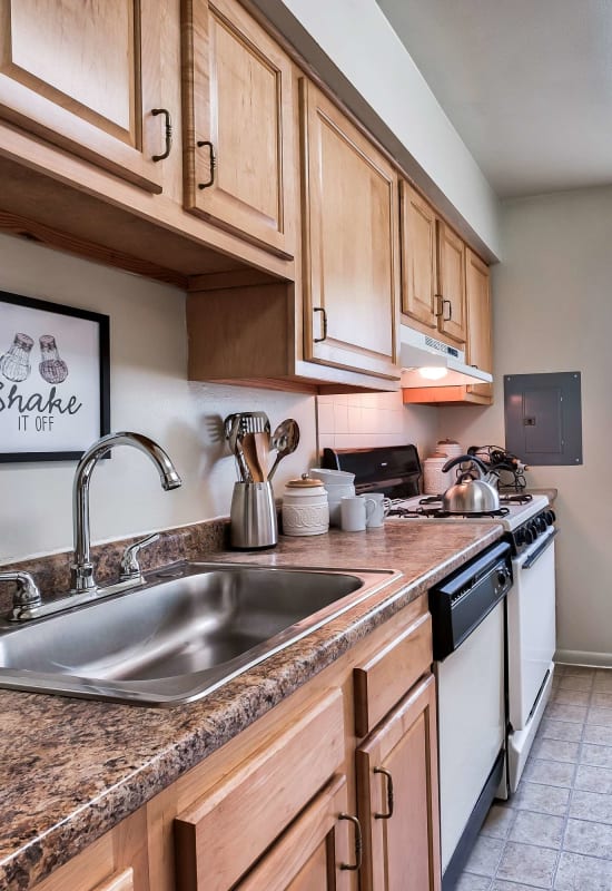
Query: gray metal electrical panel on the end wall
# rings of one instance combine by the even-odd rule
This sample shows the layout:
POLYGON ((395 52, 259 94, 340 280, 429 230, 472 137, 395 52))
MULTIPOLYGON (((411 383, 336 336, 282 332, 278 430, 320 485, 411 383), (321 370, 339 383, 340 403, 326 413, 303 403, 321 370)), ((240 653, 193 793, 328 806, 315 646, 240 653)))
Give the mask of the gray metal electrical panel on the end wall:
POLYGON ((582 464, 580 371, 504 376, 506 449, 526 464, 582 464))

